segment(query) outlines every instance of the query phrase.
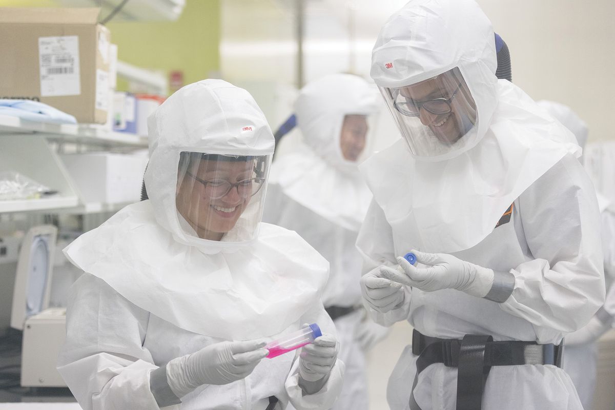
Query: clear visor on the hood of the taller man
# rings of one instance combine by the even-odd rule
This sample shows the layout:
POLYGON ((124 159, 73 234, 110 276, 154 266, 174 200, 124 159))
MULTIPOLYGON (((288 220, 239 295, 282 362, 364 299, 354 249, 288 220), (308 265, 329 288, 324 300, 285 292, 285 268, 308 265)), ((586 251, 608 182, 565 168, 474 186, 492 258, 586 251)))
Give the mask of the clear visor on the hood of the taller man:
POLYGON ((415 156, 442 156, 472 143, 476 103, 458 68, 416 84, 379 89, 415 156))

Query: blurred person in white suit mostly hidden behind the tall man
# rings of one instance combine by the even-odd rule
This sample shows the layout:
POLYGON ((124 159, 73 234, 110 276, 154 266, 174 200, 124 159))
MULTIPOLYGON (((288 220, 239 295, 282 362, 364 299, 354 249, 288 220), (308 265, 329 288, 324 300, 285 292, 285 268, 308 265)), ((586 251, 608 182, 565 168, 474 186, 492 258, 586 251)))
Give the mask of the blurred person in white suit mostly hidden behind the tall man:
MULTIPOLYGON (((568 128, 576 137, 577 143, 585 149, 587 143, 587 124, 568 106, 555 101, 541 100, 539 106, 568 128)), ((615 276, 615 213, 609 208, 609 200, 597 192, 600 208, 602 251, 604 254, 606 288, 612 288, 615 276)), ((613 292, 607 292, 607 296, 613 292)), ((605 301, 608 304, 609 301, 605 301)), ((570 375, 579 393, 583 408, 593 408, 593 392, 596 387, 597 341, 611 328, 613 316, 601 307, 587 325, 574 333, 566 334, 563 355, 563 369, 570 375)))

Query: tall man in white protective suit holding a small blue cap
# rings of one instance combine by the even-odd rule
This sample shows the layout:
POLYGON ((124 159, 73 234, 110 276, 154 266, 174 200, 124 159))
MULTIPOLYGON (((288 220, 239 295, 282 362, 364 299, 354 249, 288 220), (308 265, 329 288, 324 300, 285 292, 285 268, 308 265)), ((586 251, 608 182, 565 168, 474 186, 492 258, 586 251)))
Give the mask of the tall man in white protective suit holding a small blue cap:
POLYGON ((596 195, 574 137, 495 72, 472 0, 410 1, 373 49, 403 138, 361 167, 357 245, 373 318, 415 329, 394 410, 582 409, 559 344, 604 301, 596 195))

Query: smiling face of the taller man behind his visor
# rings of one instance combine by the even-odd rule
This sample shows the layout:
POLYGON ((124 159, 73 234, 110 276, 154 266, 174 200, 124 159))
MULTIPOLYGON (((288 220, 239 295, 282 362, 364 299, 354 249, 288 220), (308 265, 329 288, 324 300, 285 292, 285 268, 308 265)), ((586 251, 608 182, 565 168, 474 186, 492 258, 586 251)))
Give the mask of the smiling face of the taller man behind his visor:
MULTIPOLYGON (((428 127, 441 143, 454 144, 476 122, 476 104, 461 76, 450 72, 399 89, 408 104, 418 107, 421 124, 428 127), (436 100, 442 99, 442 100, 436 100), (434 102, 432 101, 436 100, 434 102), (447 109, 448 104, 448 109, 447 109), (432 106, 444 106, 446 112, 431 112, 432 106)), ((432 109, 432 111, 438 111, 432 109)))

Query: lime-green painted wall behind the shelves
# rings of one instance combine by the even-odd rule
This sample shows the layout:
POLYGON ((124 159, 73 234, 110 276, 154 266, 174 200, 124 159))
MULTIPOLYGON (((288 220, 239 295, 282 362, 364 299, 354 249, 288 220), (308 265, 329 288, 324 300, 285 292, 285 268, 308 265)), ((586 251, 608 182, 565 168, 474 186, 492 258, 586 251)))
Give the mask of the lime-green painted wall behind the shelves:
MULTIPOLYGON (((119 60, 143 68, 183 71, 184 84, 219 75, 220 1, 186 0, 175 22, 109 22, 119 60)), ((57 7, 54 0, 0 0, 0 7, 57 7)), ((101 18, 106 17, 105 12, 101 18)), ((118 78, 117 89, 127 84, 118 78)))

